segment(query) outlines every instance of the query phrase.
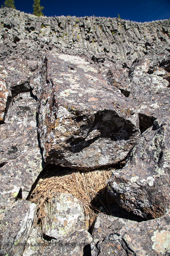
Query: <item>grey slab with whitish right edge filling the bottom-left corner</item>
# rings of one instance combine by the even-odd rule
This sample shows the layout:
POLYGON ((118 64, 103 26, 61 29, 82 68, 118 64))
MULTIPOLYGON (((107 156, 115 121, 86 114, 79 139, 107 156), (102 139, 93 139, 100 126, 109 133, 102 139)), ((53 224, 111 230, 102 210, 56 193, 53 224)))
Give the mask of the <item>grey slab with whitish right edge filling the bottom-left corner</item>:
POLYGON ((35 211, 36 204, 18 200, 15 207, 5 214, 0 224, 0 253, 2 255, 22 255, 35 211))

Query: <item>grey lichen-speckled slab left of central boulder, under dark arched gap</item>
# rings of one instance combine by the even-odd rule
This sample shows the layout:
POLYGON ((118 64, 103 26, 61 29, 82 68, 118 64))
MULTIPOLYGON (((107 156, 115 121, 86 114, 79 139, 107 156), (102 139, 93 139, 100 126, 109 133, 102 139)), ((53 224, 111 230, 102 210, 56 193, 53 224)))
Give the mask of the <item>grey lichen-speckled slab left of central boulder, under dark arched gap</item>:
POLYGON ((7 123, 0 125, 0 163, 7 163, 38 146, 36 100, 23 97, 8 111, 7 123))

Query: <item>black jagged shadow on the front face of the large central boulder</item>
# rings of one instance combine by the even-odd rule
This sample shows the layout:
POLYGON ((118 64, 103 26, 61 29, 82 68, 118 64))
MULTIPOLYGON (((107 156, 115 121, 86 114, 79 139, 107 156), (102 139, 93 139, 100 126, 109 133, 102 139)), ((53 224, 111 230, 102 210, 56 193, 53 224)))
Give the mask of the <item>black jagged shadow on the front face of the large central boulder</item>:
MULTIPOLYGON (((75 121, 79 123, 85 116, 77 116, 75 121)), ((87 136, 82 138, 69 138, 66 142, 71 145, 70 151, 77 153, 83 149, 90 147, 92 143, 104 140, 104 143, 114 143, 118 141, 126 141, 133 135, 133 124, 121 118, 115 111, 107 110, 99 111, 94 114, 93 121, 89 119, 86 125, 80 126, 81 130, 88 130, 87 136), (107 142, 108 140, 108 142, 107 142)), ((103 147, 104 148, 104 147, 103 147)), ((105 150, 102 151, 105 156, 105 150)))

